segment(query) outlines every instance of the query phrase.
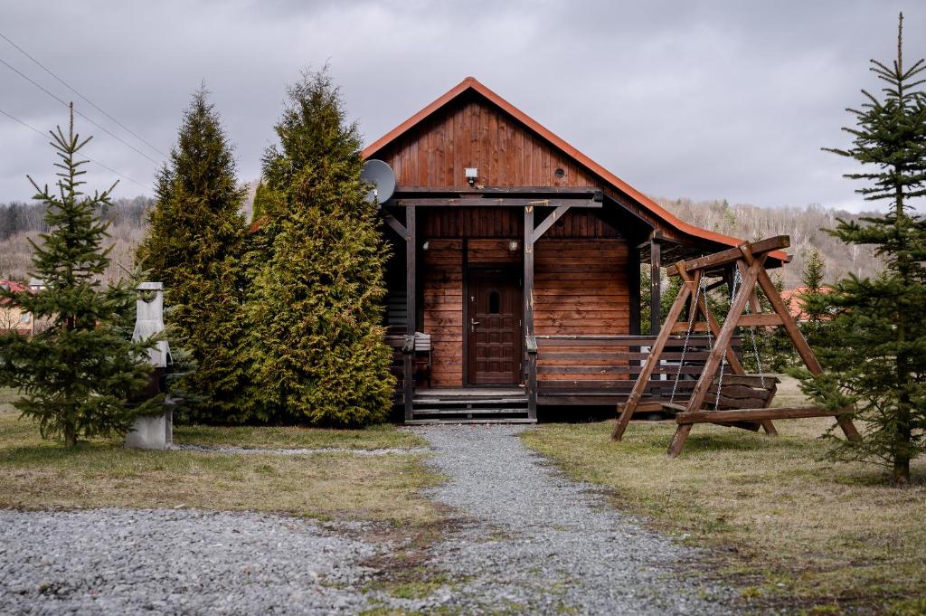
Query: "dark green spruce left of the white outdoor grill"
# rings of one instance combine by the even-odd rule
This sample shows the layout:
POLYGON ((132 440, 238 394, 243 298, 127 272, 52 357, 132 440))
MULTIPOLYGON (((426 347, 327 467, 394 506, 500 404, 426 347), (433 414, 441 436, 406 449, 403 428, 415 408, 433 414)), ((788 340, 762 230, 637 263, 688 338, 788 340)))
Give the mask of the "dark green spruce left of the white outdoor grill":
POLYGON ((32 338, 10 333, 0 338, 0 383, 19 389, 13 403, 38 421, 45 438, 61 437, 74 446, 81 437, 124 433, 135 413, 152 409, 155 400, 131 409, 127 401, 147 383, 151 342, 131 342, 134 281, 100 283, 109 265, 103 248, 106 224, 100 208, 111 205, 115 184, 102 193, 81 192, 81 141, 71 113, 68 132, 51 132, 60 161, 56 190, 48 186, 33 197, 46 207, 49 233, 32 242, 32 274, 44 282, 35 294, 2 296, 47 328, 32 338))

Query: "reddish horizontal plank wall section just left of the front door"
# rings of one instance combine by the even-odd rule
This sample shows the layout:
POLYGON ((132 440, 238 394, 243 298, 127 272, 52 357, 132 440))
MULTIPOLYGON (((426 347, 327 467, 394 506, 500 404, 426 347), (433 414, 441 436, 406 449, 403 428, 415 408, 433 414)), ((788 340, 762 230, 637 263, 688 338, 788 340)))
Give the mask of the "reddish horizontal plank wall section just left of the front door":
POLYGON ((431 334, 432 387, 463 385, 463 241, 430 240, 420 260, 424 320, 431 334))

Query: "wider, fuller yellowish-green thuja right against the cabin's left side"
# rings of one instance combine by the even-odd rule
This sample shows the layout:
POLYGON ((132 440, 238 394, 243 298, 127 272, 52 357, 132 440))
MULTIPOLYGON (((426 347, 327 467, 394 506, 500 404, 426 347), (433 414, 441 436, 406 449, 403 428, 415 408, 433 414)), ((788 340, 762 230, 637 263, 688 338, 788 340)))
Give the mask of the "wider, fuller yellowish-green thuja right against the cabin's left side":
POLYGON ((386 252, 360 182, 360 137, 327 70, 289 88, 263 160, 264 208, 248 302, 253 410, 275 421, 385 419, 394 379, 383 342, 386 252))

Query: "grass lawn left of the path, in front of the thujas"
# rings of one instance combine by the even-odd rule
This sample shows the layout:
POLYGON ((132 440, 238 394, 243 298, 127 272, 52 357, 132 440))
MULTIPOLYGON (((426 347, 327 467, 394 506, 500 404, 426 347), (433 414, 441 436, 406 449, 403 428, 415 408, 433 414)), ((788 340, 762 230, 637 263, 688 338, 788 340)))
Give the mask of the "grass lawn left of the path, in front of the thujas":
MULTIPOLYGON (((274 511, 319 519, 422 524, 440 520, 421 497, 440 477, 427 454, 361 457, 137 451, 94 440, 74 450, 43 441, 0 391, 0 508, 91 507, 274 511)), ((392 426, 369 430, 178 427, 177 440, 206 446, 420 446, 392 426)))

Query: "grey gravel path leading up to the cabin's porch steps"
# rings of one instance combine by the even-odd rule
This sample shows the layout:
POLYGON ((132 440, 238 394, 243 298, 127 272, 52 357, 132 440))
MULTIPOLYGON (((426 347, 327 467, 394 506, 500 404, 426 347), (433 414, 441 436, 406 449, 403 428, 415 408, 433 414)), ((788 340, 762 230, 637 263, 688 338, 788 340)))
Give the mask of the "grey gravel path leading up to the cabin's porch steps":
MULTIPOLYGON (((464 611, 715 614, 723 589, 685 574, 692 550, 646 531, 607 506, 594 487, 570 481, 527 449, 516 426, 415 429, 440 454, 450 481, 432 497, 474 523, 434 548, 464 611)), ((413 606, 410 606, 413 607, 413 606)))

